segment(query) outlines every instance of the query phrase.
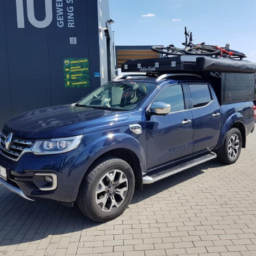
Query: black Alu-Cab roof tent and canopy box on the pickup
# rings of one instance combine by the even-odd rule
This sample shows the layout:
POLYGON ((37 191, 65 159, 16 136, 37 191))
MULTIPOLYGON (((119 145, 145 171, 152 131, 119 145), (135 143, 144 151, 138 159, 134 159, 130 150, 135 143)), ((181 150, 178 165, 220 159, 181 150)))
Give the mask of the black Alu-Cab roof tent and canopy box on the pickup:
POLYGON ((122 65, 122 72, 199 74, 211 82, 220 104, 255 100, 256 63, 246 60, 200 55, 129 60, 122 65))

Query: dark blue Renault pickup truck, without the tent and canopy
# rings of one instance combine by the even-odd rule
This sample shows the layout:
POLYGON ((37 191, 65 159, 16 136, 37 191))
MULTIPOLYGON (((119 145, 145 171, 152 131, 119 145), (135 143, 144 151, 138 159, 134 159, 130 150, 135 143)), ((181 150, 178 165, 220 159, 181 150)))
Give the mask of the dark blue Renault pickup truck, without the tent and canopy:
POLYGON ((0 182, 27 200, 77 202, 89 218, 112 220, 135 187, 214 158, 238 160, 256 107, 220 102, 221 92, 195 73, 124 75, 73 105, 8 121, 0 182))

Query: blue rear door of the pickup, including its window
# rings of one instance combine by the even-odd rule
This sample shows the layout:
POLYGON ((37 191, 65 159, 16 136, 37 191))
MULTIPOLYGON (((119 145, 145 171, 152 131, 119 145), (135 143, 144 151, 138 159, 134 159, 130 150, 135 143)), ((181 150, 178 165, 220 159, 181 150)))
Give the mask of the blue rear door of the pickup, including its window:
POLYGON ((219 102, 207 83, 188 84, 193 116, 193 153, 213 149, 217 145, 221 127, 219 102))

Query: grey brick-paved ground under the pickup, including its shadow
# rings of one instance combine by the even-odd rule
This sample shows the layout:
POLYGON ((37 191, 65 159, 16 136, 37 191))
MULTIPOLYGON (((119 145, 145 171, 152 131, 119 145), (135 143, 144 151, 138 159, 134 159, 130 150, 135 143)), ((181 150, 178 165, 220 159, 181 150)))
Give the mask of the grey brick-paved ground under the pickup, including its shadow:
POLYGON ((236 164, 212 160, 147 185, 106 224, 0 185, 0 255, 255 256, 255 150, 256 132, 236 164))

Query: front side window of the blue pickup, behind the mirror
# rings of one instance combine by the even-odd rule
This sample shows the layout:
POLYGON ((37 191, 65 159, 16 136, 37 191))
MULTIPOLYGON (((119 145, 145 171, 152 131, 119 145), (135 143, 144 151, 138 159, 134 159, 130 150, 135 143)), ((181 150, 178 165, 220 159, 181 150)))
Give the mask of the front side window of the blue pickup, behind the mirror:
POLYGON ((182 111, 185 109, 184 97, 181 84, 176 86, 169 86, 163 89, 155 98, 154 102, 164 102, 170 104, 172 109, 170 112, 182 111))

